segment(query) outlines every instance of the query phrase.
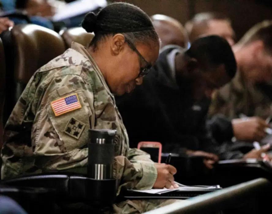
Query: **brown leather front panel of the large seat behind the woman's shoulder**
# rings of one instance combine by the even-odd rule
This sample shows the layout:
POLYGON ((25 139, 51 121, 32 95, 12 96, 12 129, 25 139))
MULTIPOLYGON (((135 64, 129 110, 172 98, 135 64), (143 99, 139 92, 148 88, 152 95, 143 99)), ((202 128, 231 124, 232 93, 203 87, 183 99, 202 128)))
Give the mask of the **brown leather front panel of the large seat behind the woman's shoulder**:
POLYGON ((11 33, 15 44, 16 82, 27 84, 38 68, 65 51, 62 38, 47 28, 35 24, 17 25, 11 33))

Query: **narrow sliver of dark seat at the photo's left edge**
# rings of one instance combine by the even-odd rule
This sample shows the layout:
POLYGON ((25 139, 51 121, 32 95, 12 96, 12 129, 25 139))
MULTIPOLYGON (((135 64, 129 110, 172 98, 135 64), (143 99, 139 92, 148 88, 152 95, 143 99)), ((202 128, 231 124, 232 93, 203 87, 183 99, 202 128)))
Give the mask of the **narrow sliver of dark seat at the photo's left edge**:
POLYGON ((0 39, 0 149, 3 143, 3 108, 5 100, 5 54, 2 40, 0 39))

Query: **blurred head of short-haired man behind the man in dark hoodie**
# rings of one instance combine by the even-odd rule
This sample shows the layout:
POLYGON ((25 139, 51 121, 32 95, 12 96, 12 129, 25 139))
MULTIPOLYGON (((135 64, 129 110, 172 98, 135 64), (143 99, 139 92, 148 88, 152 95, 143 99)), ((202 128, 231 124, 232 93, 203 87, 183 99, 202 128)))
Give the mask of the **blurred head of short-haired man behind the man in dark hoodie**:
POLYGON ((225 38, 232 46, 235 43, 235 33, 228 17, 221 13, 197 13, 185 24, 190 42, 199 36, 218 35, 225 38))

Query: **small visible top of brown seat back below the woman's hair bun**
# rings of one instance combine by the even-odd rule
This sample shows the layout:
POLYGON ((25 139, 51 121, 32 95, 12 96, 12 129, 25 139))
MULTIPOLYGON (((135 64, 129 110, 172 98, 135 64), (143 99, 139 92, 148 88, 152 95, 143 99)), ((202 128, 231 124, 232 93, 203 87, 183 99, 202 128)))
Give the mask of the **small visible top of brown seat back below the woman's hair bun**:
POLYGON ((94 37, 93 33, 87 33, 81 27, 67 29, 64 32, 61 32, 60 35, 62 36, 66 44, 66 48, 70 48, 72 42, 77 42, 87 47, 89 46, 90 42, 92 41, 94 37))

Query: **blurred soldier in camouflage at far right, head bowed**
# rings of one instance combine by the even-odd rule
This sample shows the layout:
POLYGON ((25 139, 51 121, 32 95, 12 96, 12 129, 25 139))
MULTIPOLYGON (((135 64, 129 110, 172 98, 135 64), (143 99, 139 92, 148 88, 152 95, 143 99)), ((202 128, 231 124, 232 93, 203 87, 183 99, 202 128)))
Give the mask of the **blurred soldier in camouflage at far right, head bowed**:
MULTIPOLYGON (((258 124, 248 127, 241 124, 239 119, 232 120, 233 126, 239 126, 240 130, 244 130, 239 132, 240 140, 259 141, 266 136, 264 129, 268 125, 264 120, 271 116, 271 99, 269 94, 260 90, 258 84, 272 80, 271 41, 272 21, 258 23, 247 31, 233 46, 238 67, 236 76, 213 96, 210 115, 222 113, 234 119, 244 114, 263 118, 263 120, 256 117, 248 118, 244 124, 259 121, 258 124)), ((271 91, 269 93, 271 94, 271 91)))

